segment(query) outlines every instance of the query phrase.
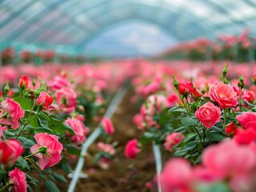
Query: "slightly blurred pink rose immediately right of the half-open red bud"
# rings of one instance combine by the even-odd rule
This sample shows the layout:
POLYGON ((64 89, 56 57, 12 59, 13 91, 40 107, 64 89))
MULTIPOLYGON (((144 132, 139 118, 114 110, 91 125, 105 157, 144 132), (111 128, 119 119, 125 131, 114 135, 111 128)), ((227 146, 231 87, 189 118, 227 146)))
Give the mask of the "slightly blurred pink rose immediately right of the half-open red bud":
POLYGON ((70 113, 75 110, 75 98, 75 90, 72 90, 71 88, 63 87, 61 90, 56 91, 56 102, 59 104, 59 108, 65 113, 70 113))

